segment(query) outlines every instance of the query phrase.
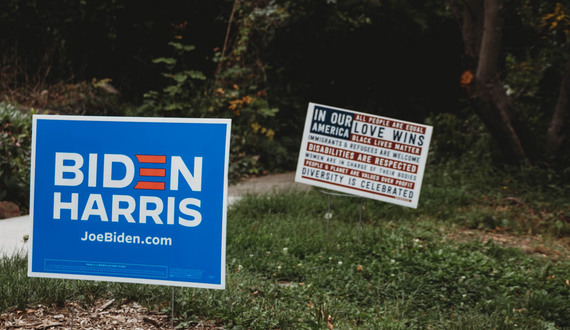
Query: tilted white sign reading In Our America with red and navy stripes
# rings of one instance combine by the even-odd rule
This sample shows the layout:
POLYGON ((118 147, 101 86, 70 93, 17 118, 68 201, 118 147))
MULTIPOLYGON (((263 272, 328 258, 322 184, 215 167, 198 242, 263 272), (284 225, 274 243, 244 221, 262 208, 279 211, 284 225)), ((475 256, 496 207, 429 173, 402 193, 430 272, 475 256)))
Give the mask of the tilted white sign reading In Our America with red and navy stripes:
POLYGON ((432 127, 309 103, 295 181, 417 208, 432 127))

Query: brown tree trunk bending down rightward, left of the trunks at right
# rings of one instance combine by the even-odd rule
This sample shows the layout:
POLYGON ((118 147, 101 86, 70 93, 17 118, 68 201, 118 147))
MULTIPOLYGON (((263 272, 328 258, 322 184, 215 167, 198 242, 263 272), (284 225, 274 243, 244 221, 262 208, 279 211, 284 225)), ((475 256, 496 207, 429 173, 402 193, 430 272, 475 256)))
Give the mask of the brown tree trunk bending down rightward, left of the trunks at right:
MULTIPOLYGON (((453 3, 452 3, 453 4, 453 3)), ((469 99, 489 129, 505 159, 529 159, 532 142, 518 119, 498 74, 503 19, 502 0, 466 0, 463 9, 463 43, 466 64, 474 72, 469 99)))

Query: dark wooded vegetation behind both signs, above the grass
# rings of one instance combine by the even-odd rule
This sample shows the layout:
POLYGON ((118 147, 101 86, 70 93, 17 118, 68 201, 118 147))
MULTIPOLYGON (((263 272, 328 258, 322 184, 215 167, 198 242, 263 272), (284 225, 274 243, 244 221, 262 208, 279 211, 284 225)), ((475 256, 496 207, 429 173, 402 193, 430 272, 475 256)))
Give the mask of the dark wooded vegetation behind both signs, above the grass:
POLYGON ((308 102, 433 125, 434 164, 567 184, 568 139, 541 146, 568 76, 568 3, 498 2, 493 77, 533 141, 521 158, 481 106, 464 24, 479 0, 2 1, 1 197, 27 203, 30 112, 229 117, 236 180, 294 169, 308 102))

